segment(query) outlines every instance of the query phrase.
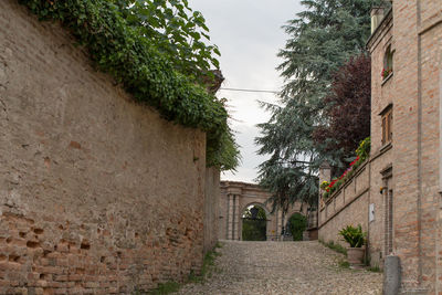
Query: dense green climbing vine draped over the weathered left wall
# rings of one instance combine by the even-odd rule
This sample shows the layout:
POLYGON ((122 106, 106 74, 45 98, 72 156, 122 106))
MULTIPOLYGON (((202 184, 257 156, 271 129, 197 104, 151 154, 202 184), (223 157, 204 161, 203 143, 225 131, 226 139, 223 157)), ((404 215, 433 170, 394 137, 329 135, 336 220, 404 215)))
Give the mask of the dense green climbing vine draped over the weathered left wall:
MULTIPOLYGON (((124 11, 106 0, 19 0, 41 20, 60 21, 88 50, 97 67, 139 103, 158 109, 162 117, 208 135, 207 165, 234 169, 239 150, 228 125, 222 99, 197 85, 194 77, 177 71, 155 40, 128 23, 124 11)), ((180 64, 182 65, 182 64, 180 64)))

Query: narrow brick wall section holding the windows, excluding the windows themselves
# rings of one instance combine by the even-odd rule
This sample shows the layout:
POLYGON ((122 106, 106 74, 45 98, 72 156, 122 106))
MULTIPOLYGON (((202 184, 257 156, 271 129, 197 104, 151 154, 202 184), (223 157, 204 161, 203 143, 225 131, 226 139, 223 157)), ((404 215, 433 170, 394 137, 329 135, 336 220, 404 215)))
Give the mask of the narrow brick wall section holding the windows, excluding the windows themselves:
MULTIPOLYGON (((383 266, 383 259, 388 252, 386 243, 388 236, 386 236, 386 229, 388 224, 388 208, 386 207, 386 194, 389 189, 393 189, 393 182, 389 181, 389 189, 382 189, 387 187, 386 181, 381 175, 382 171, 392 166, 392 148, 394 147, 394 139, 397 136, 396 129, 396 105, 393 104, 396 93, 396 59, 393 59, 393 73, 388 78, 382 78, 381 72, 385 67, 383 59, 387 49, 390 48, 392 52, 396 51, 394 39, 392 38, 392 14, 387 18, 378 28, 378 32, 375 33, 370 41, 370 54, 371 54, 371 151, 370 151, 370 200, 369 204, 375 208, 375 220, 369 223, 369 235, 370 235, 370 260, 371 264, 376 266, 383 266), (393 144, 382 144, 382 117, 381 112, 389 105, 392 106, 393 124, 392 124, 392 138, 393 144)), ((393 55, 396 57, 396 53, 393 55)), ((368 204, 368 206, 369 206, 368 204)))

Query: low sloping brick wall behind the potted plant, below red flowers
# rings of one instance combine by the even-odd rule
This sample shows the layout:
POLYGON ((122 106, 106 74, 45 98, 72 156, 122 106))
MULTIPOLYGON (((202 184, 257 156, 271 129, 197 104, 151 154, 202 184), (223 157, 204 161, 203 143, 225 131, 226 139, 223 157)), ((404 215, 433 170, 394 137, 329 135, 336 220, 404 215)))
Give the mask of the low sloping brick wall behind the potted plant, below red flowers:
MULTIPOLYGON (((367 255, 372 266, 383 267, 385 249, 385 196, 380 193, 383 186, 381 177, 375 176, 385 168, 391 152, 375 154, 352 178, 348 179, 338 191, 319 202, 318 238, 324 242, 348 244, 338 232, 347 225, 362 226, 367 232, 367 255), (379 170, 378 170, 379 169, 379 170), (369 219, 370 206, 373 209, 369 219)), ((320 181, 326 179, 320 179, 320 181)), ((319 183, 320 183, 319 181, 319 183)), ((327 180, 328 181, 328 180, 327 180)))

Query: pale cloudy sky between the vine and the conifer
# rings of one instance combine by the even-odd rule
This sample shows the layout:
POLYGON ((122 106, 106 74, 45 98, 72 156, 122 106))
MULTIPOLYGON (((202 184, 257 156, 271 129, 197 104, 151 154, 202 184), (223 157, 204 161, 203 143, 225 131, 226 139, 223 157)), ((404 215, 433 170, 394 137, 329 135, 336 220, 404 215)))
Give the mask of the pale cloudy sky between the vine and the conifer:
MULTIPOLYGON (((276 54, 287 39, 281 27, 301 10, 299 0, 189 0, 200 11, 210 29, 211 41, 220 48, 222 87, 280 91, 283 80, 275 67, 282 62, 276 54)), ((269 93, 220 91, 229 99, 231 125, 242 146, 242 164, 235 173, 225 172, 222 180, 254 182, 256 167, 265 160, 256 155, 256 124, 266 122, 269 114, 257 101, 275 102, 269 93)))

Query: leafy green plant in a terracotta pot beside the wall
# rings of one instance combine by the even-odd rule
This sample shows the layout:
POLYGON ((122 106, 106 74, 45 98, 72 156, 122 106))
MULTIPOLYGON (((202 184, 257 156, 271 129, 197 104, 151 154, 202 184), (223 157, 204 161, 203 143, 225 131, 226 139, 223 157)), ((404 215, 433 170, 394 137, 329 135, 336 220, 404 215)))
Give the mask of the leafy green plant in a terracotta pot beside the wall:
POLYGON ((359 224, 357 228, 347 225, 347 228, 339 231, 339 234, 350 244, 350 246, 347 247, 348 263, 351 265, 361 264, 365 252, 365 247, 362 246, 366 243, 367 233, 362 232, 362 228, 359 224))

